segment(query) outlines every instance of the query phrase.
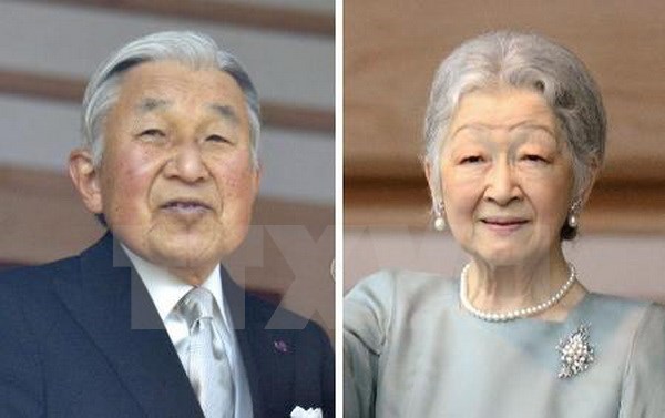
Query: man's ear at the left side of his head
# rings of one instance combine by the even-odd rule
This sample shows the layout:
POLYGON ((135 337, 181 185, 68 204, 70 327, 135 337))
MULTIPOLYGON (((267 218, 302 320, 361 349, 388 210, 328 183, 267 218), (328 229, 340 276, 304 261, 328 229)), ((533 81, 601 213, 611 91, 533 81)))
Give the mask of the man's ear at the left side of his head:
POLYGON ((92 213, 102 213, 102 193, 99 171, 93 164, 92 154, 88 150, 76 149, 69 157, 69 173, 81 200, 92 213))

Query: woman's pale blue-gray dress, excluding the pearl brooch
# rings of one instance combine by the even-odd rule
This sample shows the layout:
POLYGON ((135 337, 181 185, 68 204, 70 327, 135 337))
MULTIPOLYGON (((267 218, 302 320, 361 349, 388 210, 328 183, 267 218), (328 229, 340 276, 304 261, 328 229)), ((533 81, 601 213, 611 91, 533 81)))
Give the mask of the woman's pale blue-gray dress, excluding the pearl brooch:
POLYGON ((665 417, 665 309, 587 294, 560 322, 488 323, 459 282, 403 271, 344 306, 345 417, 665 417), (560 341, 589 328, 594 361, 569 378, 560 341))

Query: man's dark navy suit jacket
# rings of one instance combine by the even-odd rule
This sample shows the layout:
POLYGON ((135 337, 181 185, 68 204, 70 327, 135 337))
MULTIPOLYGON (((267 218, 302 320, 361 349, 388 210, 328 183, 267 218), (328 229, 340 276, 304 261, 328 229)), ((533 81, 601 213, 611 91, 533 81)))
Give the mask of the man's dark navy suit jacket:
MULTIPOLYGON (((254 416, 288 417, 301 406, 332 417, 326 335, 222 271, 254 416), (275 313, 282 328, 296 329, 266 329, 275 313)), ((0 275, 0 417, 203 417, 147 290, 110 234, 80 256, 0 275)))

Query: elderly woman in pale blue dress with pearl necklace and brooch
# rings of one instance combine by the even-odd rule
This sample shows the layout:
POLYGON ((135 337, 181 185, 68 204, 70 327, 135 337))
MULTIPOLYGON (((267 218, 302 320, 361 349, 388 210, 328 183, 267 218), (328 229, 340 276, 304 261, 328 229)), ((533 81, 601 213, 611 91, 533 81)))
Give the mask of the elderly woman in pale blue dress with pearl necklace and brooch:
POLYGON ((587 292, 562 252, 605 147, 582 62, 535 34, 472 39, 436 74, 424 136, 434 227, 470 263, 349 293, 345 416, 665 417, 665 310, 587 292))

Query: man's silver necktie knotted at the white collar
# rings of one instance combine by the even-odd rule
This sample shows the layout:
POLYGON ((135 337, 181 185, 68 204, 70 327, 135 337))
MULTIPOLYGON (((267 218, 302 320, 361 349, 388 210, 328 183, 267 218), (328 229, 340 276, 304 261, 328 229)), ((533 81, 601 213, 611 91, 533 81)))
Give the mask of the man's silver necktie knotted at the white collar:
POLYGON ((213 329, 215 298, 203 287, 190 290, 178 308, 190 328, 187 376, 206 418, 233 418, 235 388, 224 344, 213 329))

